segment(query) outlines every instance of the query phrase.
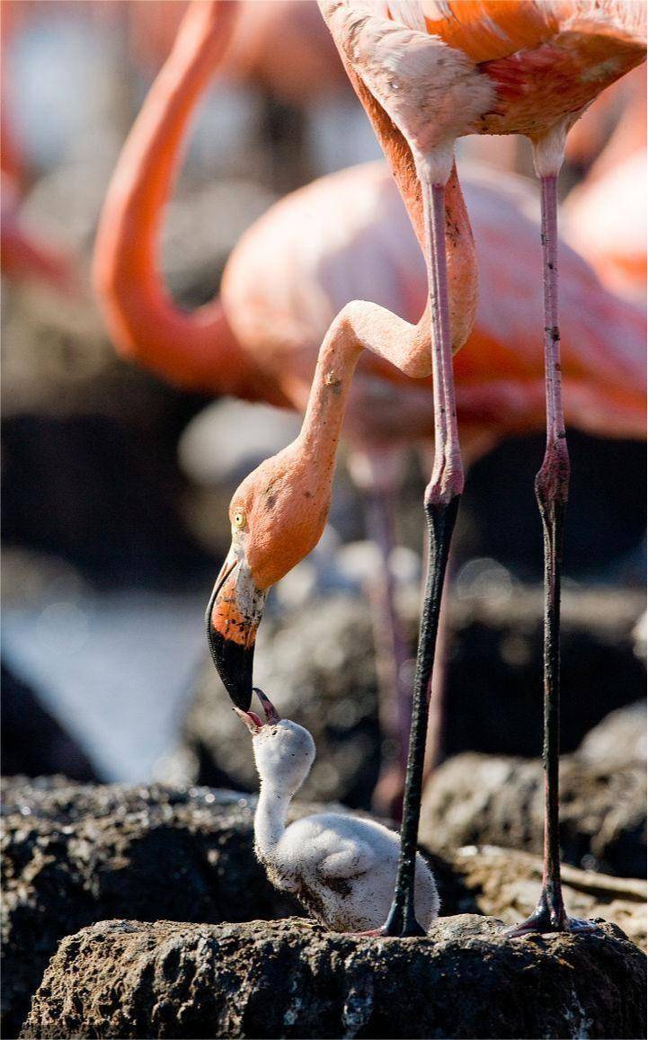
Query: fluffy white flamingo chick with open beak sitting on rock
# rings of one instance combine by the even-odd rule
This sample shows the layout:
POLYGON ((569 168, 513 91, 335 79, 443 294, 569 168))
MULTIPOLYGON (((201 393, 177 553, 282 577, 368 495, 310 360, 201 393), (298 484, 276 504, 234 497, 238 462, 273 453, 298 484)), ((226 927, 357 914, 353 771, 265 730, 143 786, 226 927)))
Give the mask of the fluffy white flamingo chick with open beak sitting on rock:
MULTIPOLYGON (((341 812, 305 816, 286 827, 290 802, 315 759, 309 731, 281 719, 255 690, 265 723, 254 711, 234 710, 252 733, 261 781, 254 817, 254 848, 268 880, 292 892, 308 912, 333 932, 368 932, 385 921, 398 865, 398 835, 372 820, 341 812)), ((427 931, 439 913, 432 872, 416 857, 416 909, 427 931)))

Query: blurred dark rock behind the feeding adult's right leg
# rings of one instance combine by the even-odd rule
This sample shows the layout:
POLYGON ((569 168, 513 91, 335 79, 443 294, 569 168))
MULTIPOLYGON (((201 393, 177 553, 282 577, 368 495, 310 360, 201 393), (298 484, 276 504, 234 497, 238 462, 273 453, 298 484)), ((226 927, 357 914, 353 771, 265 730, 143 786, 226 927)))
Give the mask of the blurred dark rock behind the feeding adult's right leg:
MULTIPOLYGON (((495 597, 461 589, 451 609, 446 754, 481 751, 536 757, 542 752, 540 586, 495 597)), ((604 587, 565 589, 562 597, 561 748, 575 751, 615 708, 645 697, 646 670, 634 654, 643 593, 604 587)))

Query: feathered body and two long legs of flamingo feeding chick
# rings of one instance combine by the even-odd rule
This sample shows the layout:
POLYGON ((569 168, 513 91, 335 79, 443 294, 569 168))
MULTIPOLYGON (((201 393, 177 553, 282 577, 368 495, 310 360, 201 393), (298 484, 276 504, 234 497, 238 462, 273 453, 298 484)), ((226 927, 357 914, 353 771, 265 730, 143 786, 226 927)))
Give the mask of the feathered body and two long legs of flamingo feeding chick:
MULTIPOLYGON (((469 133, 522 133, 534 147, 542 184, 545 286, 544 355, 547 444, 536 478, 545 548, 545 865, 540 901, 525 931, 570 931, 560 879, 560 579, 569 456, 561 389, 558 323, 556 179, 565 137, 578 115, 645 56, 645 5, 586 0, 546 3, 496 0, 420 0, 368 3, 319 0, 352 82, 381 140, 415 227, 420 187, 433 314, 436 438, 435 466, 425 502, 431 520, 432 588, 443 582, 463 469, 447 321, 443 203, 453 144, 469 133), (436 516, 435 516, 436 514, 436 516), (436 523, 436 530, 433 527, 436 523), (435 553, 437 556, 435 557, 435 553)), ((432 671, 435 617, 421 629, 419 665, 432 671)), ((425 615, 424 615, 425 616, 425 615)), ((419 677, 421 670, 419 669, 419 677)), ((390 934, 417 931, 413 864, 420 804, 425 721, 424 693, 415 693, 411 772, 404 812, 403 859, 390 934), (421 747, 423 745, 423 747, 421 747)))

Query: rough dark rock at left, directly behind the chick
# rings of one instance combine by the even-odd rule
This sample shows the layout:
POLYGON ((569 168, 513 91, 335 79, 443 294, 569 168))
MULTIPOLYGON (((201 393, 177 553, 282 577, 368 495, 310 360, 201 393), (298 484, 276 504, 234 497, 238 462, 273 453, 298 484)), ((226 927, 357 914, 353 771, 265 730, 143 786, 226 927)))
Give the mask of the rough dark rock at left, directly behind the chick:
POLYGON ((60 938, 93 921, 299 912, 254 858, 253 813, 232 791, 5 781, 4 1035, 20 1029, 60 938))

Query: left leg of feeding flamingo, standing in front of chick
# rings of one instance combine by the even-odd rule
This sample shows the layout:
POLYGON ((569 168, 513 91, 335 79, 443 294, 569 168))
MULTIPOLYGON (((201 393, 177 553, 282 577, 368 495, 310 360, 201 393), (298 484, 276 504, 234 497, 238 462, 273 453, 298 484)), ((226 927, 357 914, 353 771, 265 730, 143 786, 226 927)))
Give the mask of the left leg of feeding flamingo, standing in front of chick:
POLYGON ((424 934, 416 919, 414 886, 429 720, 429 690, 434 670, 443 582, 452 530, 464 488, 464 472, 457 428, 447 292, 445 190, 442 184, 430 184, 424 179, 421 179, 421 182, 431 293, 435 457, 432 478, 425 488, 424 495, 429 539, 427 574, 414 678, 412 725, 400 827, 400 856, 394 899, 383 928, 385 935, 397 936, 424 934))

